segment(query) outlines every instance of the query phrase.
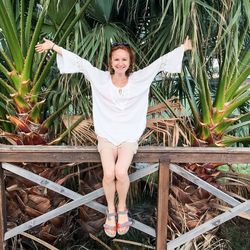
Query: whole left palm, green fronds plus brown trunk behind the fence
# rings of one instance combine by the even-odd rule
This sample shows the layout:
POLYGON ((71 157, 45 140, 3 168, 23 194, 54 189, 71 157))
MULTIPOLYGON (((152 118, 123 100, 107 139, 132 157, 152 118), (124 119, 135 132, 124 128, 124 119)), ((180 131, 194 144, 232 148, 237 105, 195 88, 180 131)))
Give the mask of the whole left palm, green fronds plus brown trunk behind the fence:
MULTIPOLYGON (((67 5, 67 15, 54 34, 58 44, 65 43, 71 34, 71 28, 82 17, 89 2, 87 0, 83 4, 74 2, 67 5)), ((71 97, 68 96, 57 110, 48 107, 49 93, 53 92, 58 83, 58 76, 52 72, 51 77, 50 73, 55 55, 48 53, 41 58, 34 50, 41 34, 44 34, 47 11, 53 4, 55 1, 44 1, 43 5, 35 0, 28 4, 23 0, 0 1, 0 136, 5 138, 2 142, 17 145, 53 143, 53 137, 48 135, 49 127, 71 103, 71 97)), ((78 123, 79 119, 54 142, 64 138, 78 123)), ((33 169, 37 174, 55 182, 64 183, 67 180, 64 169, 70 169, 74 165, 47 168, 48 166, 31 164, 22 167, 33 169)), ((29 180, 8 176, 6 184, 9 193, 7 211, 9 222, 13 226, 50 210, 52 201, 55 207, 66 202, 54 193, 44 192, 44 189, 34 186, 29 180)), ((70 222, 70 216, 58 217, 48 225, 42 225, 37 235, 48 242, 55 242, 60 238, 67 241, 70 238, 70 222), (69 236, 68 239, 65 235, 62 237, 65 233, 69 236)), ((30 243, 26 244, 30 246, 30 243)))

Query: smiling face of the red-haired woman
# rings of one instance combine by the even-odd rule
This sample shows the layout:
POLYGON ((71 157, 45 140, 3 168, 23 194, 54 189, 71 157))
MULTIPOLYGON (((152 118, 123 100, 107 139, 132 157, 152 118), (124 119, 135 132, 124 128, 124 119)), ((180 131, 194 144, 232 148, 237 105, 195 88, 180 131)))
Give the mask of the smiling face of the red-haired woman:
POLYGON ((129 53, 123 49, 117 49, 113 51, 111 65, 115 71, 115 74, 125 75, 130 65, 129 53))

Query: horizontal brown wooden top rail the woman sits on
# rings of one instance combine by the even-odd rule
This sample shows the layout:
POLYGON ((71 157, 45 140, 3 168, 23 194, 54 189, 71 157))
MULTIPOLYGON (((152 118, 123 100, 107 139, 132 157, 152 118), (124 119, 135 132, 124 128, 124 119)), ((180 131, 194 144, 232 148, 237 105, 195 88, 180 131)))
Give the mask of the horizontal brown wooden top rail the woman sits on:
MULTIPOLYGON (((250 163, 249 148, 139 147, 134 162, 250 163)), ((0 162, 100 162, 96 147, 0 146, 0 162)))

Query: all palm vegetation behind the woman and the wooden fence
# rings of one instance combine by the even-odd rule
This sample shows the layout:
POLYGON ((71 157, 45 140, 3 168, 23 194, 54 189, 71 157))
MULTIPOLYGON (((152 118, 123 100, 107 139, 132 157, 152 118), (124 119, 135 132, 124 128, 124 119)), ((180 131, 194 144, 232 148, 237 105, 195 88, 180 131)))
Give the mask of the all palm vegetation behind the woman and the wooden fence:
MULTIPOLYGON (((136 53, 136 69, 139 69, 179 46, 189 35, 194 49, 185 54, 183 73, 161 73, 152 84, 147 129, 141 145, 248 147, 249 13, 249 0, 0 0, 0 143, 96 143, 89 83, 80 74, 59 75, 52 52, 36 54, 35 44, 43 37, 106 70, 111 42, 128 42, 136 53)), ((100 166, 23 167, 32 168, 80 193, 101 185, 100 166)), ((249 164, 185 167, 198 176, 202 173, 212 184, 225 184, 224 188, 229 191, 249 198, 249 164)), ((142 206, 145 197, 156 199, 157 176, 149 176, 146 181, 146 184, 143 180, 133 185, 129 195, 130 204, 136 201, 138 207, 144 209, 137 211, 141 217, 148 213, 147 206, 142 206), (146 193, 143 193, 144 185, 146 193)), ((7 208, 8 219, 14 224, 67 202, 12 176, 6 177, 6 183, 7 188, 13 183, 17 185, 17 189, 8 191, 7 201, 15 208, 15 211, 7 208), (27 200, 25 197, 30 197, 31 192, 46 200, 47 206, 27 200)), ((197 197, 202 197, 205 204, 204 214, 208 217, 218 214, 210 207, 206 193, 176 177, 173 177, 171 195, 171 238, 190 230, 194 222, 202 222, 198 216, 200 208, 192 202, 197 197), (198 215, 191 217, 190 211, 198 215)), ((155 207, 151 211, 150 218, 144 219, 154 225, 155 207)), ((79 249, 85 249, 84 246, 91 249, 88 244, 95 240, 91 239, 86 245, 82 243, 89 240, 89 232, 110 243, 98 234, 103 217, 86 207, 67 213, 58 218, 57 223, 50 221, 32 233, 60 249, 62 246, 76 249, 73 245, 78 243, 82 245, 79 249), (77 242, 80 238, 82 241, 77 242)), ((242 226, 243 232, 247 231, 245 224, 242 226)), ((241 250, 240 244, 247 247, 242 249, 249 248, 247 243, 241 243, 241 229, 236 230, 237 236, 229 227, 222 228, 231 235, 228 239, 235 249, 241 250)), ((249 238, 249 230, 246 237, 249 238)), ((128 238, 151 246, 155 243, 134 231, 128 238)), ((19 244, 19 248, 21 245, 27 249, 34 247, 31 240, 24 237, 13 240, 12 244, 19 244)), ((203 242, 196 239, 192 244, 198 249, 203 242)), ((218 244, 216 249, 223 249, 222 245, 218 244)))

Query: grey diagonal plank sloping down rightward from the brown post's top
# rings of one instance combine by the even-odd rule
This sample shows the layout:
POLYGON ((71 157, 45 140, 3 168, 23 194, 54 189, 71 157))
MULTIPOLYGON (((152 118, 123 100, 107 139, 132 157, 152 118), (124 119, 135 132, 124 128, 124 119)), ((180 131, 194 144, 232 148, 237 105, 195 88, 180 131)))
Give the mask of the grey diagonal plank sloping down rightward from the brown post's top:
MULTIPOLYGON (((196 184, 198 187, 201 187, 208 191, 209 193, 213 194, 217 198, 225 201, 226 203, 232 205, 233 207, 241 204, 238 200, 235 198, 231 197, 230 195, 224 193, 220 189, 214 187, 213 185, 209 184, 206 181, 203 181, 199 177, 195 176, 194 174, 188 172, 184 168, 176 165, 176 164, 170 164, 170 170, 175 172, 176 174, 184 177, 185 179, 191 181, 192 183, 196 184)), ((250 210, 248 210, 246 213, 250 214, 250 210)))

